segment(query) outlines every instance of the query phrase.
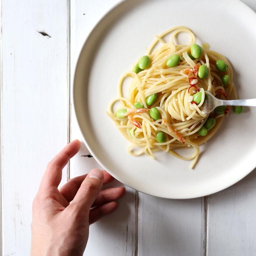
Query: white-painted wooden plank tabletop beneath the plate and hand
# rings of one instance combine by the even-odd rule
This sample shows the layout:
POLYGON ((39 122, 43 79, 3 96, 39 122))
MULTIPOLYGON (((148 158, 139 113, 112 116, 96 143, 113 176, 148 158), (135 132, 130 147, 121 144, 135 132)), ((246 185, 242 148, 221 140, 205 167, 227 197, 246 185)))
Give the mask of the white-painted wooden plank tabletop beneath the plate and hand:
MULTIPOLYGON (((68 141, 82 140, 72 104, 76 59, 117 2, 0 1, 3 256, 29 255, 31 203, 45 166, 68 141)), ((244 2, 256 11, 256 0, 244 2)), ((82 145, 62 182, 99 167, 88 154, 82 145)), ((127 192, 114 214, 91 226, 85 255, 256 255, 256 171, 192 200, 127 192)))

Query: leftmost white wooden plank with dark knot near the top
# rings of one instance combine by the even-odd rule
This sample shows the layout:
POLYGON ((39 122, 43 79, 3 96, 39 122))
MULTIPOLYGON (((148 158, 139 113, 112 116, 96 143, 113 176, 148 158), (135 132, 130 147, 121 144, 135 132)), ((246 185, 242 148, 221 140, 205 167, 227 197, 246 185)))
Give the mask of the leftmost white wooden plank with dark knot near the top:
POLYGON ((68 141, 67 2, 3 0, 1 30, 2 255, 23 256, 44 169, 68 141))

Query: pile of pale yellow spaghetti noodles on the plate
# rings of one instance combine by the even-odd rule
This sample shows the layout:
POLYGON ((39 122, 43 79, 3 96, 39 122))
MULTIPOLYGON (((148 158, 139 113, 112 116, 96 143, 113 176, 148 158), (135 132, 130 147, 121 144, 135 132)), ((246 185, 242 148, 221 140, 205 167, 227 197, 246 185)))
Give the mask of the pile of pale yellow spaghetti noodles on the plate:
MULTIPOLYGON (((118 84, 119 97, 110 102, 107 114, 114 121, 118 130, 131 145, 129 154, 139 156, 146 154, 155 158, 154 152, 162 150, 182 160, 193 160, 190 168, 195 165, 199 156, 199 145, 209 140, 219 129, 225 113, 204 115, 200 107, 204 102, 204 91, 209 91, 217 98, 237 99, 233 84, 233 71, 228 60, 218 52, 209 49, 209 44, 204 43, 200 58, 191 58, 190 49, 195 44, 196 37, 186 27, 171 28, 159 36, 148 49, 147 56, 150 66, 138 73, 126 72, 118 84), (175 44, 179 33, 185 32, 190 37, 187 45, 175 44), (169 36, 170 41, 165 42, 164 37, 169 36), (159 47, 157 45, 161 44, 159 47), (178 65, 167 67, 167 60, 173 55, 179 55, 178 65), (194 59, 194 60, 192 60, 194 59), (215 63, 222 60, 228 69, 220 72, 215 63), (205 78, 198 77, 200 65, 205 65, 208 74, 205 78), (221 76, 228 75, 229 82, 223 85, 221 76), (123 96, 124 80, 130 77, 132 82, 129 96, 123 96), (196 92, 200 92, 201 100, 197 104, 193 99, 196 92), (156 101, 147 105, 147 97, 156 94, 156 101), (122 107, 114 111, 114 105, 120 102, 122 107), (142 108, 135 108, 134 104, 140 102, 142 108), (154 120, 150 116, 149 109, 156 108, 159 119, 154 120), (116 117, 117 111, 124 109, 121 118, 116 117), (205 136, 198 132, 204 126, 206 120, 215 118, 216 124, 208 130, 205 136), (156 140, 157 132, 164 132, 164 142, 156 140), (190 156, 181 156, 176 149, 190 148, 190 156)), ((156 111, 156 112, 157 112, 156 111)), ((120 116, 119 116, 120 117, 120 116)))

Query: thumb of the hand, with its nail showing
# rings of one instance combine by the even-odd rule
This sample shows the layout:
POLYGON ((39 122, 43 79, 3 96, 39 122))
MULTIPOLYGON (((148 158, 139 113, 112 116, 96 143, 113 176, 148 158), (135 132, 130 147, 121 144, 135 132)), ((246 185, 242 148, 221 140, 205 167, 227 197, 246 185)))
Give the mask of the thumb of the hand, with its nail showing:
POLYGON ((71 202, 71 204, 75 206, 76 211, 89 214, 93 202, 100 193, 103 180, 103 172, 99 169, 92 169, 92 171, 88 173, 71 202))

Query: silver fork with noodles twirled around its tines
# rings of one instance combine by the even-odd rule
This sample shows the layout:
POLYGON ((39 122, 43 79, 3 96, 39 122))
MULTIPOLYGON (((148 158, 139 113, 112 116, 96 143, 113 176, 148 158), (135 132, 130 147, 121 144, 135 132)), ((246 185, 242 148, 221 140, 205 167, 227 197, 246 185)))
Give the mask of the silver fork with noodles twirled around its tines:
POLYGON ((253 106, 256 107, 256 99, 247 100, 220 100, 212 95, 211 92, 205 91, 204 103, 199 108, 203 114, 211 113, 219 106, 253 106))

